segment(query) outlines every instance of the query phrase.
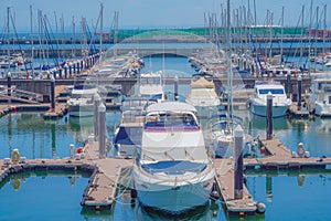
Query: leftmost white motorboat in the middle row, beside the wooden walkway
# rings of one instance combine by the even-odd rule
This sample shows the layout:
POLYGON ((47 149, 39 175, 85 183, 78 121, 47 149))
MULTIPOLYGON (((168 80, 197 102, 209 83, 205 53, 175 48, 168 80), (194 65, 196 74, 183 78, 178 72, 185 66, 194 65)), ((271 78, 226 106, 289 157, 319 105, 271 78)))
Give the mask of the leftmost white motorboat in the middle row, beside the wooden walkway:
POLYGON ((75 85, 71 98, 67 101, 70 116, 87 117, 94 116, 93 96, 98 93, 94 85, 78 84, 75 85))

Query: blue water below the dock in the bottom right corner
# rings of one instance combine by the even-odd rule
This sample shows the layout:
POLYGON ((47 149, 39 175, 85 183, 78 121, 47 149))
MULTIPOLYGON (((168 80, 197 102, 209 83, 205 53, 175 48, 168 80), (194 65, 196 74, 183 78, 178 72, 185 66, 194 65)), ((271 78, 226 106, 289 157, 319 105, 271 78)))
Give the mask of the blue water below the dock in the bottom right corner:
POLYGON ((330 176, 330 169, 284 170, 273 177, 255 170, 254 175, 247 175, 246 186, 255 201, 266 204, 268 219, 328 220, 330 176))

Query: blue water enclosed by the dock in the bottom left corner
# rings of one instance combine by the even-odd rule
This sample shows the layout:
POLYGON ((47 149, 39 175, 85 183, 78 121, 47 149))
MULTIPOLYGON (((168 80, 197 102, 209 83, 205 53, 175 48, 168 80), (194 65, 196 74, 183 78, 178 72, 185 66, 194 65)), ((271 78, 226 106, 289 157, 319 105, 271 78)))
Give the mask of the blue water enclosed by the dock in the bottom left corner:
POLYGON ((79 173, 11 176, 0 186, 0 220, 84 220, 79 202, 87 181, 79 173))

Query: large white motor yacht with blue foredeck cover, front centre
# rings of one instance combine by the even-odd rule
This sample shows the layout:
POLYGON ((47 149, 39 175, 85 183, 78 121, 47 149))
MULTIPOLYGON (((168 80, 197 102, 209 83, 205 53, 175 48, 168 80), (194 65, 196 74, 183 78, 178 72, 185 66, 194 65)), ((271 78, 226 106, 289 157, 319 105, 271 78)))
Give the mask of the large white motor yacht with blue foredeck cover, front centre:
POLYGON ((140 203, 170 213, 203 207, 214 176, 196 109, 177 102, 147 107, 141 149, 134 165, 140 203))

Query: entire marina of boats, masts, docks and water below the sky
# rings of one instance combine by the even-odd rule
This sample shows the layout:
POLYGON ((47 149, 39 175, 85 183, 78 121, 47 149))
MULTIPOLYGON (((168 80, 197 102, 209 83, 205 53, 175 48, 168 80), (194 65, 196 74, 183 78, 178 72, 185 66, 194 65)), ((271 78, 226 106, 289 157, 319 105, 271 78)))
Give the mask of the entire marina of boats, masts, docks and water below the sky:
POLYGON ((121 30, 115 12, 109 33, 99 3, 93 30, 62 15, 55 35, 30 6, 29 38, 8 7, 0 220, 328 219, 327 4, 286 27, 285 7, 259 25, 247 3, 197 28, 121 30))

